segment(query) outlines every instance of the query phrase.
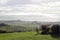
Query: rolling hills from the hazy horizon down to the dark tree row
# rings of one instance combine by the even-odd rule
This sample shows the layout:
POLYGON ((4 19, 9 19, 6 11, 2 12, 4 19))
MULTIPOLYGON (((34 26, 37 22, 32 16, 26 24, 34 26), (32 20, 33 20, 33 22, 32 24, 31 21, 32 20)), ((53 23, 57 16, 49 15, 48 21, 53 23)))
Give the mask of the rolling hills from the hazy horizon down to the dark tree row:
POLYGON ((39 22, 39 21, 21 21, 21 20, 11 20, 11 21, 0 21, 0 24, 4 24, 4 27, 0 27, 0 30, 6 31, 31 31, 35 30, 36 27, 40 27, 42 24, 60 24, 60 22, 39 22), (9 26, 6 26, 9 25, 9 26))

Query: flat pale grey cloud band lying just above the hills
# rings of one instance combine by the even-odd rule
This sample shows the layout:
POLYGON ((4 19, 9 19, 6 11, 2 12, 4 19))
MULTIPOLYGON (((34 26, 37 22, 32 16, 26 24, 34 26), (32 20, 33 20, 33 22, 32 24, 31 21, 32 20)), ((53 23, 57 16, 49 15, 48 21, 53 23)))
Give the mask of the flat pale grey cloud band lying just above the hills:
POLYGON ((23 21, 58 21, 57 18, 50 18, 42 15, 5 15, 0 16, 0 20, 23 20, 23 21))

